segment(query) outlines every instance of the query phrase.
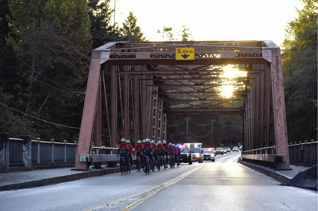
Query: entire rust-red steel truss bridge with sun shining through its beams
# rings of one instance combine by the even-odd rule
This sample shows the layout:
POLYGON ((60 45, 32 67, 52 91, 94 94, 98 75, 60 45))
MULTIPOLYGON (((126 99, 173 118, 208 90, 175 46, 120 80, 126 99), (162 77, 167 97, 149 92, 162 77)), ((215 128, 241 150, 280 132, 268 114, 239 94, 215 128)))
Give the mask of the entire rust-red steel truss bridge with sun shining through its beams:
POLYGON ((108 42, 94 49, 75 169, 87 168, 79 155, 92 140, 116 147, 121 137, 133 144, 169 139, 168 118, 179 113, 241 115, 242 158, 289 169, 281 55, 272 41, 108 42), (176 48, 194 48, 194 60, 176 60, 176 48), (223 77, 228 67, 243 76, 223 77), (225 84, 239 91, 224 98, 225 84))

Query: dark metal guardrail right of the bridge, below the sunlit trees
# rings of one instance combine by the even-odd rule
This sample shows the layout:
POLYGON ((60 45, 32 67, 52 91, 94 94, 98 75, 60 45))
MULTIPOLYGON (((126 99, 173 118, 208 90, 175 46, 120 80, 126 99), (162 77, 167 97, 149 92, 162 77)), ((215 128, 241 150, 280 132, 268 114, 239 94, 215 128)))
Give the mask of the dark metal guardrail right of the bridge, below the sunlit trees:
POLYGON ((290 143, 288 145, 289 159, 295 163, 318 164, 318 141, 311 139, 290 143))

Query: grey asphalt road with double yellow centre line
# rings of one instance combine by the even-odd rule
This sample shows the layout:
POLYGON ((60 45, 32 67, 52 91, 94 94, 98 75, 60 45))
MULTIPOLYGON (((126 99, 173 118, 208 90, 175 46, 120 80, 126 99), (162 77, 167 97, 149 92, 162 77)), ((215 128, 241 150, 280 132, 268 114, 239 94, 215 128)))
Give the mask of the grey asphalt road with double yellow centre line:
POLYGON ((131 174, 111 174, 0 192, 0 210, 317 210, 318 192, 283 186, 236 163, 215 162, 131 174))

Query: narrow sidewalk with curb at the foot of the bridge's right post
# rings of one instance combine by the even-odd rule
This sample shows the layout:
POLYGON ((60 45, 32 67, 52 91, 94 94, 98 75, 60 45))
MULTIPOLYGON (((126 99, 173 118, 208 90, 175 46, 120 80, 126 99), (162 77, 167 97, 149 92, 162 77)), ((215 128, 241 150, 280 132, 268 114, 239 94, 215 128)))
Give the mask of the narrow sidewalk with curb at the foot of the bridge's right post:
POLYGON ((286 185, 290 185, 290 180, 294 178, 299 172, 304 171, 310 167, 307 166, 297 166, 297 165, 290 165, 291 170, 275 170, 270 167, 261 166, 253 163, 248 163, 244 161, 239 161, 239 163, 254 169, 266 176, 270 176, 273 179, 280 181, 286 185))

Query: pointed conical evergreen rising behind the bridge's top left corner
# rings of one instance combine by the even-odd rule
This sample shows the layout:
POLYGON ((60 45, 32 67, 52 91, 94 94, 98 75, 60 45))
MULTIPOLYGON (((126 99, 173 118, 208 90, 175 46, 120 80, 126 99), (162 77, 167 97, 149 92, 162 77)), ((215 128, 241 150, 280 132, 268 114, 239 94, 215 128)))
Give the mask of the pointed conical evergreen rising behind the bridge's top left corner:
POLYGON ((122 23, 123 28, 121 29, 122 39, 125 41, 145 41, 143 33, 139 26, 137 26, 137 18, 133 12, 129 12, 129 15, 122 23))

